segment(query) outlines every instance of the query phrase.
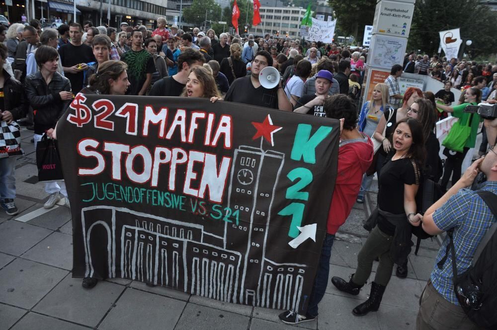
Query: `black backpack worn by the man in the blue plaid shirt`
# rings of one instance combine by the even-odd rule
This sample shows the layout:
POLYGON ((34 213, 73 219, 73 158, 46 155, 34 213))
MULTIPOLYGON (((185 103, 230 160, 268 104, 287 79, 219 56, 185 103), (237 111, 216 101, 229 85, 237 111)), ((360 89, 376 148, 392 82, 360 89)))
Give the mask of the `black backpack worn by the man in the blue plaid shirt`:
MULTIPOLYGON (((490 191, 479 190, 476 193, 485 201, 497 217, 497 195, 490 191)), ((437 263, 442 268, 447 260, 449 248, 452 252, 452 272, 454 292, 466 315, 475 324, 483 328, 497 327, 497 222, 483 237, 475 251, 471 266, 462 274, 457 274, 454 229, 447 231, 450 239, 445 256, 437 263)))

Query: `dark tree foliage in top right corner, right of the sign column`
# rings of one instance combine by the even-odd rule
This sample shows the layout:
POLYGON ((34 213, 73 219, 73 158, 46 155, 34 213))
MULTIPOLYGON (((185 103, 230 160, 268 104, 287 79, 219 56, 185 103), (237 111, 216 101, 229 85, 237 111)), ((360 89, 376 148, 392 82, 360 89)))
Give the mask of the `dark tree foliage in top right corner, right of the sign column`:
POLYGON ((478 0, 421 0, 414 7, 408 49, 434 54, 440 45, 439 31, 460 28, 461 38, 471 40, 465 47, 470 58, 495 53, 497 12, 478 0))

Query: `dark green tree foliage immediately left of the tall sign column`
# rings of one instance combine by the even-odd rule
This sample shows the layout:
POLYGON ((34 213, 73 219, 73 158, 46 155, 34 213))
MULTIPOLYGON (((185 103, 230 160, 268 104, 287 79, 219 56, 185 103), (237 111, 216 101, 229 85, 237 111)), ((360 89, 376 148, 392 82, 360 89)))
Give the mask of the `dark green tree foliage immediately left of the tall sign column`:
POLYGON ((345 35, 353 35, 355 40, 364 37, 364 26, 373 25, 376 1, 371 0, 328 0, 335 12, 336 27, 345 35))

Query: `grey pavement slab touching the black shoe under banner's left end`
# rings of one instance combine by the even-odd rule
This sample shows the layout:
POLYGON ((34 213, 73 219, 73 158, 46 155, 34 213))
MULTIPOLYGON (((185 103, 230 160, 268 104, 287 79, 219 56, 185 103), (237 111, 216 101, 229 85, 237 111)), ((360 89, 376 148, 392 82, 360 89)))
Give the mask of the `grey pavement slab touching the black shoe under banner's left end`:
POLYGON ((81 325, 96 327, 124 291, 122 285, 98 281, 84 289, 81 278, 67 276, 38 305, 35 312, 81 325))

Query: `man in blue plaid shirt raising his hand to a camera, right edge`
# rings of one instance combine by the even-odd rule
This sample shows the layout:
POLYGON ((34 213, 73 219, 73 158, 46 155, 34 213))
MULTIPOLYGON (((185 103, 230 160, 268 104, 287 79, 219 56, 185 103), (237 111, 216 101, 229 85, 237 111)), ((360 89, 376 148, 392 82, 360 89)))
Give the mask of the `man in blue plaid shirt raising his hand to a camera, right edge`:
MULTIPOLYGON (((497 106, 494 106, 495 108, 497 106)), ((484 115, 482 112, 488 110, 483 109, 483 111, 479 110, 478 112, 484 115)), ((419 300, 419 312, 416 320, 417 330, 481 329, 481 325, 475 324, 468 317, 469 314, 465 313, 465 310, 474 308, 471 306, 473 304, 478 305, 474 310, 479 311, 479 313, 486 313, 479 320, 486 319, 488 322, 496 321, 495 315, 492 315, 495 311, 491 312, 490 315, 486 312, 489 308, 492 310, 495 306, 488 306, 488 300, 487 306, 485 306, 486 301, 478 299, 481 297, 480 294, 492 295, 492 292, 485 291, 484 283, 481 284, 481 288, 476 287, 478 291, 477 295, 473 292, 475 287, 459 286, 459 283, 463 283, 460 280, 464 276, 462 274, 467 272, 470 266, 473 269, 479 267, 479 264, 473 260, 475 251, 477 248, 482 248, 479 247, 480 243, 484 241, 485 234, 496 222, 496 217, 482 197, 477 192, 466 188, 473 183, 473 180, 480 171, 483 172, 487 176, 487 182, 483 184, 479 193, 482 193, 482 191, 491 192, 491 196, 493 197, 491 204, 495 206, 494 200, 497 198, 495 195, 497 194, 497 147, 495 145, 497 119, 486 118, 485 127, 487 128, 489 142, 494 144, 491 145, 487 156, 475 161, 468 167, 464 175, 452 185, 445 195, 426 210, 422 218, 422 227, 426 233, 436 235, 448 232, 448 235, 446 235, 442 247, 438 251, 430 279, 419 300), (454 260, 457 273, 456 287, 458 295, 456 295, 454 290, 454 260, 452 259, 452 252, 449 253, 451 251, 450 248, 452 248, 452 251, 455 251, 454 260), (464 310, 460 303, 461 296, 465 299, 466 304, 470 305, 468 307, 465 304, 464 310)), ((491 240, 495 240, 495 235, 494 239, 491 240)), ((482 243, 484 246, 485 244, 487 243, 482 243)), ((490 244, 489 242, 488 245, 490 244)), ((484 252, 487 253, 487 256, 488 251, 484 252)), ((495 253, 495 250, 490 253, 495 253)), ((491 272, 490 278, 488 277, 488 273, 486 273, 486 279, 490 279, 490 282, 495 283, 495 261, 494 265, 492 265, 492 262, 483 258, 483 254, 480 259, 485 260, 485 267, 491 272)))

